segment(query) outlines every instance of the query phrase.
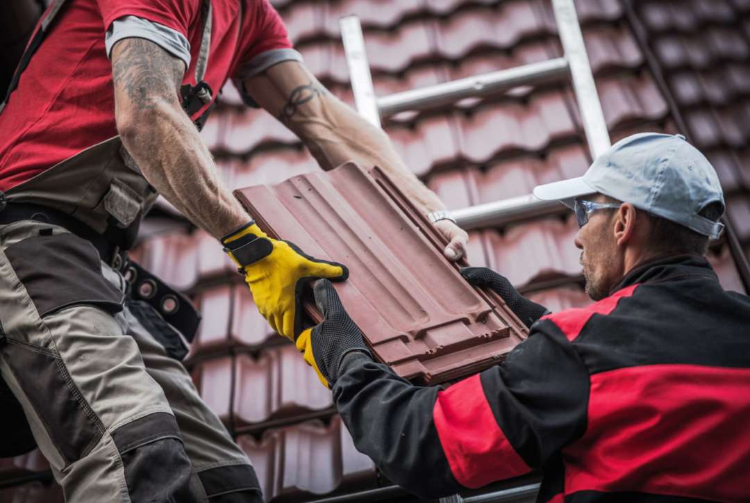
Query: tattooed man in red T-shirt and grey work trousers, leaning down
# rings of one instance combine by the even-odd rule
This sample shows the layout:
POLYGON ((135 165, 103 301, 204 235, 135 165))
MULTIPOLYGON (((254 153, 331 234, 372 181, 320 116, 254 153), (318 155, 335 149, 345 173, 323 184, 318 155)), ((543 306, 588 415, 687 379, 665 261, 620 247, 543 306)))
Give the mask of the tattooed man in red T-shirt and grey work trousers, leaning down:
POLYGON ((68 501, 262 501, 179 363, 199 316, 124 253, 162 194, 290 339, 299 285, 346 279, 266 238, 217 179, 199 128, 229 77, 324 169, 383 167, 463 254, 466 233, 305 68, 268 0, 54 0, 0 104, 0 455, 38 444, 68 501))

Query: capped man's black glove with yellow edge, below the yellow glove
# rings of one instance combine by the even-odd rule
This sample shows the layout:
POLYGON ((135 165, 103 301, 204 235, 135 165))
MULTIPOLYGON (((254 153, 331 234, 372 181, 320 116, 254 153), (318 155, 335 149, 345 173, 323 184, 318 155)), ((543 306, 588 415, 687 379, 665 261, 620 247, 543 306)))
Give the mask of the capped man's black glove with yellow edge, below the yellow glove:
POLYGON ((295 344, 320 382, 332 387, 345 355, 360 351, 372 357, 362 330, 349 318, 332 282, 320 279, 314 287, 315 303, 323 314, 323 323, 303 330, 295 344))

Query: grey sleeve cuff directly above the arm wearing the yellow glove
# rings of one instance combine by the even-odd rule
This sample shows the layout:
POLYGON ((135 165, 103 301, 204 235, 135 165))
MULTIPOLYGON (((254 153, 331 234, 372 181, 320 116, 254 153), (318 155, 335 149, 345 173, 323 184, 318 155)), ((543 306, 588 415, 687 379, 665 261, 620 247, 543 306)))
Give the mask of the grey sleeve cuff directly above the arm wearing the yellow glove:
POLYGON ((144 20, 142 17, 124 16, 114 20, 104 35, 104 47, 107 49, 107 57, 112 53, 115 42, 123 38, 145 38, 157 46, 166 50, 167 53, 181 59, 185 68, 190 68, 190 42, 180 32, 144 20))

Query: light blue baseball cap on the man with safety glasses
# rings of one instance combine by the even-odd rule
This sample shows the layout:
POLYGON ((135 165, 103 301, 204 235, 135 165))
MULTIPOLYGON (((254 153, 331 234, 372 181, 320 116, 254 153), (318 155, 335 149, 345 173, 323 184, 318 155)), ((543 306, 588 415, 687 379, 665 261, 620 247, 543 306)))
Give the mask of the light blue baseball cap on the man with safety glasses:
POLYGON ((541 200, 572 208, 576 197, 600 193, 717 239, 724 225, 698 215, 724 193, 711 163, 682 134, 638 133, 599 155, 583 176, 538 185, 541 200))

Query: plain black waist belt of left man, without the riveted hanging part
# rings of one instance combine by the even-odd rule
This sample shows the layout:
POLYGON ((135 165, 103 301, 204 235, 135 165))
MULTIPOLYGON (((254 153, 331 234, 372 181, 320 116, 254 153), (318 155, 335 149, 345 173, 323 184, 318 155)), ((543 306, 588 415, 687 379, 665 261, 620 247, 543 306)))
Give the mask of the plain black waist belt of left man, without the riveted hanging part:
POLYGON ((91 242, 99 252, 101 260, 110 264, 110 266, 120 269, 124 264, 124 254, 120 251, 118 245, 113 244, 107 237, 79 219, 57 209, 32 203, 6 203, 5 208, 0 207, 0 225, 12 224, 20 220, 34 220, 44 224, 65 227, 80 238, 91 242))

